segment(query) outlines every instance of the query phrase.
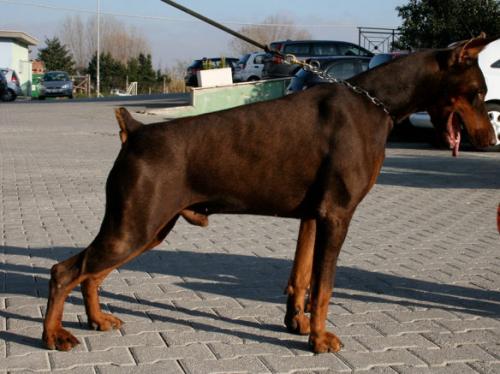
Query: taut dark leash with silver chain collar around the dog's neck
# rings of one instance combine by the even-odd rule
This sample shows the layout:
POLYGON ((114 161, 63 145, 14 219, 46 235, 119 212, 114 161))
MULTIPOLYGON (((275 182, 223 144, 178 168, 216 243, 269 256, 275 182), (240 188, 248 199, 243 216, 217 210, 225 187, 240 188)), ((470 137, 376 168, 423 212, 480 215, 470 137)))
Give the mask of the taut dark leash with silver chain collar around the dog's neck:
POLYGON ((385 114, 387 114, 389 117, 392 118, 392 115, 391 115, 389 109, 387 108, 387 106, 384 104, 384 102, 382 100, 380 100, 379 98, 373 96, 372 94, 370 94, 364 88, 355 86, 355 85, 353 85, 353 84, 351 84, 351 83, 349 83, 349 82, 347 82, 345 80, 337 79, 335 77, 327 75, 323 70, 319 69, 319 64, 317 66, 315 66, 314 64, 310 64, 310 63, 307 63, 305 61, 299 60, 295 55, 292 55, 292 54, 283 54, 283 53, 281 53, 279 51, 275 51, 274 49, 269 48, 268 45, 259 43, 259 42, 255 41, 255 40, 253 40, 253 39, 251 39, 251 38, 249 38, 249 37, 247 37, 247 36, 245 36, 243 34, 240 34, 237 31, 234 31, 234 30, 230 29, 227 26, 224 26, 223 24, 221 24, 219 22, 216 22, 216 21, 214 21, 214 20, 212 20, 212 19, 210 19, 208 17, 205 17, 204 15, 202 15, 200 13, 195 12, 194 10, 191 10, 189 8, 186 8, 185 6, 177 4, 173 0, 161 0, 161 1, 164 2, 165 4, 171 5, 174 8, 179 9, 180 11, 182 11, 184 13, 187 13, 187 14, 195 17, 195 18, 198 18, 199 20, 201 20, 203 22, 206 22, 206 23, 208 23, 208 24, 210 24, 210 25, 212 25, 212 26, 214 26, 214 27, 216 27, 216 28, 218 28, 218 29, 220 29, 220 30, 222 30, 224 32, 227 32, 228 34, 231 34, 231 35, 237 37, 238 39, 244 40, 245 42, 250 43, 250 44, 258 47, 258 48, 264 50, 267 53, 272 53, 273 55, 281 58, 287 64, 299 65, 304 70, 310 71, 311 73, 317 75, 318 77, 320 77, 321 79, 326 80, 329 83, 342 84, 342 85, 348 87, 349 89, 351 89, 355 93, 367 97, 368 100, 370 100, 370 102, 372 102, 375 106, 377 106, 380 109, 382 109, 385 114))

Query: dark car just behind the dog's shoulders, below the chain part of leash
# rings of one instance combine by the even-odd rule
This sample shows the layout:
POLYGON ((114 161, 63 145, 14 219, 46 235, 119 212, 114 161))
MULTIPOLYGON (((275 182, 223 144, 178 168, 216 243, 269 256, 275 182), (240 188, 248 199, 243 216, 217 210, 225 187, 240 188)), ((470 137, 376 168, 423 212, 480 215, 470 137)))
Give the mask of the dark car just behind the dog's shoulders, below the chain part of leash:
MULTIPOLYGON (((370 57, 364 56, 337 56, 337 57, 319 57, 307 61, 311 64, 319 65, 319 69, 325 74, 340 80, 349 79, 363 71, 368 70, 370 57)), ((328 82, 317 74, 300 69, 292 78, 287 94, 305 90, 320 83, 328 82)))

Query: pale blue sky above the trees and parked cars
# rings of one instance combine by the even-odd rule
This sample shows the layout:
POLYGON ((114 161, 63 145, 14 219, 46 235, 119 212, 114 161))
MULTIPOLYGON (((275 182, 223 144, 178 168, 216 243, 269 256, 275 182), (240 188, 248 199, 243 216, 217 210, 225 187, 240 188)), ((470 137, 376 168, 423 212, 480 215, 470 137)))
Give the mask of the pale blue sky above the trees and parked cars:
MULTIPOLYGON (((68 15, 101 14, 139 30, 149 41, 155 68, 201 57, 232 56, 232 36, 161 0, 0 0, 0 30, 26 32, 40 41, 57 35, 68 15)), ((177 3, 237 30, 282 14, 308 30, 313 39, 358 42, 358 26, 396 28, 396 7, 407 0, 176 0, 177 3)))

